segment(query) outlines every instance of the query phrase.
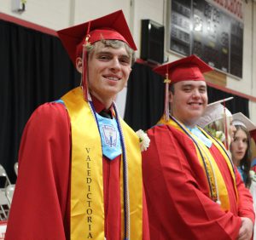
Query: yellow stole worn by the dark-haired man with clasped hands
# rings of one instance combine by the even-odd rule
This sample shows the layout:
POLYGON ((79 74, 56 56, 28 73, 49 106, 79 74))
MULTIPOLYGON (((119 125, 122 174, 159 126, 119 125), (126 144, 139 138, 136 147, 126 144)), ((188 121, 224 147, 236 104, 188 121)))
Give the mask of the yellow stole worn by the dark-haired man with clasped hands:
MULTIPOLYGON (((176 122, 174 122, 172 120, 172 118, 169 121, 166 121, 164 119, 164 117, 162 117, 160 119, 159 123, 170 125, 170 126, 174 127, 175 129, 177 129, 183 133, 187 132, 187 134, 192 136, 192 138, 196 142, 196 144, 195 144, 195 142, 193 142, 193 143, 195 145, 197 157, 201 163, 201 167, 204 169, 206 177, 209 179, 209 185, 211 185, 211 186, 209 186, 209 189, 210 189, 209 197, 211 197, 212 200, 215 202, 218 200, 218 197, 219 197, 221 209, 223 209, 224 211, 230 210, 230 199, 229 199, 229 194, 228 194, 227 188, 225 186, 224 178, 223 178, 220 170, 218 169, 218 164, 215 162, 214 158, 212 157, 211 151, 209 151, 207 146, 205 146, 201 142, 201 140, 199 140, 195 136, 195 134, 192 134, 189 131, 189 129, 186 128, 182 123, 178 122, 182 126, 182 127, 180 127, 176 122), (205 167, 204 163, 206 164, 206 167, 205 167), (212 191, 211 191, 211 189, 212 189, 212 191)), ((201 129, 201 128, 199 128, 199 129, 201 129)), ((224 150, 224 146, 223 147, 221 146, 222 145, 221 142, 212 138, 212 136, 207 134, 203 129, 201 129, 201 131, 203 134, 205 134, 207 136, 208 139, 212 140, 212 144, 218 148, 218 151, 220 151, 221 155, 224 157, 224 160, 227 163, 228 168, 230 169, 230 174, 233 179, 233 185, 236 190, 236 203, 237 203, 238 202, 238 193, 237 193, 237 189, 236 189, 236 176, 234 173, 232 163, 230 162, 228 153, 227 153, 227 151, 224 150)))

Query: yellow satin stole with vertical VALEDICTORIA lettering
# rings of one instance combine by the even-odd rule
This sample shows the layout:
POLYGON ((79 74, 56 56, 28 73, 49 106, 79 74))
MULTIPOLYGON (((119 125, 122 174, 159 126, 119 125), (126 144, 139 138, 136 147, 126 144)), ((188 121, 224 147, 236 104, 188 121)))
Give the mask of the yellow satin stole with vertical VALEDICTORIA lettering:
MULTIPOLYGON (((71 239, 104 239, 104 200, 102 177, 102 144, 99 130, 84 101, 82 89, 76 88, 61 98, 71 119, 71 239)), ((143 180, 142 159, 137 135, 123 121, 130 193, 130 238, 143 235, 143 180)), ((123 163, 123 161, 122 161, 123 163)), ((122 239, 124 239, 123 164, 120 188, 122 206, 122 239)), ((111 203, 110 203, 111 204, 111 203)), ((110 230, 111 231, 111 230, 110 230)))

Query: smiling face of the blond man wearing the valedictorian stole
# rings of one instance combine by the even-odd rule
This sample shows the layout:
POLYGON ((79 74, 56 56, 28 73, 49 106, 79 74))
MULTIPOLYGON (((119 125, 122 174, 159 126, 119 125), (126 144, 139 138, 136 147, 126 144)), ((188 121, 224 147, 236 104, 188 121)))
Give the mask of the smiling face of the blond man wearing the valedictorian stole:
MULTIPOLYGON (((80 63, 81 63, 80 59, 80 63)), ((78 65, 77 65, 78 66, 78 65)), ((78 70, 82 71, 81 64, 78 70)), ((127 83, 131 72, 131 56, 125 45, 118 49, 106 47, 104 43, 95 43, 88 57, 88 88, 106 108, 127 83)))

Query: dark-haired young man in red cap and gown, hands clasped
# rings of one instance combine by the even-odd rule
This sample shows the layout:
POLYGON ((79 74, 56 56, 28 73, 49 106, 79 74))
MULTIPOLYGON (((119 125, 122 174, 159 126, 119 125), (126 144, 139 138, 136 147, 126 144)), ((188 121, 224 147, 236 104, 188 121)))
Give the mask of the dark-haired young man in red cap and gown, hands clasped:
POLYGON ((150 146, 143 153, 152 239, 252 237, 249 191, 224 145, 195 125, 207 106, 202 73, 211 70, 195 55, 154 69, 167 86, 165 116, 148 130, 150 146))

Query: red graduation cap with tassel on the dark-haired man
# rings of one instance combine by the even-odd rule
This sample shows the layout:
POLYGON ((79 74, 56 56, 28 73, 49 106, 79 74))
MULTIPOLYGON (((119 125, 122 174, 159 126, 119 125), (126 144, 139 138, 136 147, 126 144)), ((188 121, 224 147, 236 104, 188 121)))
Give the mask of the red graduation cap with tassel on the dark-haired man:
POLYGON ((169 84, 181 81, 205 81, 204 72, 212 71, 204 61, 195 55, 176 60, 153 69, 156 73, 166 77, 165 113, 166 121, 169 120, 169 84))

